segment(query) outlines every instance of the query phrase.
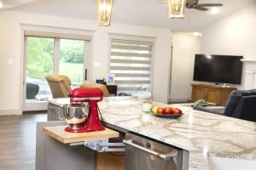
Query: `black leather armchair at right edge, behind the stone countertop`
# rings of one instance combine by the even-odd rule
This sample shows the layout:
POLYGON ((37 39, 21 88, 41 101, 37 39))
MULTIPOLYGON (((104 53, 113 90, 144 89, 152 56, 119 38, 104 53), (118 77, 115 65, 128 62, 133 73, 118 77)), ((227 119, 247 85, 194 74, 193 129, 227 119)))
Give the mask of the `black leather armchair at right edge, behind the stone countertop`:
POLYGON ((201 106, 195 106, 194 110, 256 122, 256 89, 233 91, 224 111, 207 109, 201 106))

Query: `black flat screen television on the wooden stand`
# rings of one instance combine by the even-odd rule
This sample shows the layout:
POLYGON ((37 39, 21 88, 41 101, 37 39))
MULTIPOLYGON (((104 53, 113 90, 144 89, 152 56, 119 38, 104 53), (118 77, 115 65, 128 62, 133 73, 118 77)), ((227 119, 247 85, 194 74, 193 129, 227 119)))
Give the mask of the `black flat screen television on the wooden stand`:
POLYGON ((195 54, 194 81, 241 84, 242 56, 195 54))

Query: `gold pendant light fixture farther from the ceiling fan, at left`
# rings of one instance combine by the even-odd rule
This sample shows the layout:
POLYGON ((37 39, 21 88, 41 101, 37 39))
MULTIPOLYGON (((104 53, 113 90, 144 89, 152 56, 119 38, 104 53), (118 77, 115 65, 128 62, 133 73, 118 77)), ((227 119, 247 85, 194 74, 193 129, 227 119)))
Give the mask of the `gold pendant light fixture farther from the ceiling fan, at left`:
POLYGON ((98 26, 110 26, 113 0, 97 0, 98 26))

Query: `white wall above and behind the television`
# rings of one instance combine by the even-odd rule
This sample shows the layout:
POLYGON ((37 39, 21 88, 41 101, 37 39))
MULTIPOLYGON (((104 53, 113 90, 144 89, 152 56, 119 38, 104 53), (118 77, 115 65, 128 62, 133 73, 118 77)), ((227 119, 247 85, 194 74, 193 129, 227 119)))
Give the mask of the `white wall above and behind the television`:
MULTIPOLYGON (((242 55, 244 59, 256 59, 256 3, 207 26, 202 31, 201 54, 242 55)), ((237 88, 244 88, 244 84, 243 75, 241 87, 237 88)))

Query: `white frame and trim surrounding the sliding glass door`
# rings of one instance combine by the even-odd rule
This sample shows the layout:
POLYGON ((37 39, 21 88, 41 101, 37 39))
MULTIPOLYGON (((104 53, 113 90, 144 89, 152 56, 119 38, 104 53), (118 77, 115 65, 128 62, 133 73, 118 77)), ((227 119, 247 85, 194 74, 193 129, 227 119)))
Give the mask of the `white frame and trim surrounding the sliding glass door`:
MULTIPOLYGON (((47 109, 47 103, 42 103, 42 105, 38 105, 37 107, 26 108, 26 88, 25 80, 26 80, 26 37, 51 37, 55 35, 53 38, 59 39, 76 39, 84 41, 84 49, 87 46, 88 53, 86 55, 84 62, 86 62, 87 70, 88 70, 88 81, 92 80, 92 54, 93 54, 93 44, 94 44, 94 30, 84 30, 84 29, 76 29, 76 28, 67 28, 67 27, 57 27, 57 26, 39 26, 39 25, 30 25, 26 23, 20 23, 20 99, 19 99, 19 108, 20 111, 42 111, 47 109), (28 34, 28 35, 26 35, 28 34), (41 36, 40 36, 41 34, 41 36), (66 37, 67 36, 67 37, 66 37), (79 38, 80 37, 80 38, 79 38), (90 39, 90 40, 89 40, 90 39)), ((56 41, 55 41, 56 43, 56 41)), ((55 46, 56 47, 56 46, 55 46)), ((84 50, 85 51, 85 50, 84 50)), ((54 65, 55 67, 55 65, 54 65)))

